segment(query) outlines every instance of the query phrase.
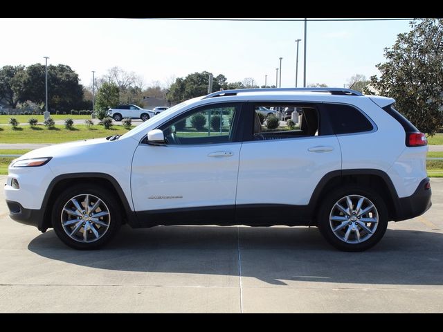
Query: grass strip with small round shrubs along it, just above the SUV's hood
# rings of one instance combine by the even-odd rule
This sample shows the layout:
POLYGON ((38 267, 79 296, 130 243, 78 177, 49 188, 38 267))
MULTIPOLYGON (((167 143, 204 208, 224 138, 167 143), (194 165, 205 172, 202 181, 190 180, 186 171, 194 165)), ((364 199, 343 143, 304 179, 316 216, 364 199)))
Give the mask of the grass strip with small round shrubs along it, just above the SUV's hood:
POLYGON ((107 137, 111 135, 127 133, 123 126, 113 126, 105 129, 103 126, 86 127, 78 124, 73 129, 65 129, 62 125, 56 125, 55 129, 47 129, 44 126, 0 127, 0 142, 2 143, 62 143, 73 140, 86 140, 90 138, 107 137))

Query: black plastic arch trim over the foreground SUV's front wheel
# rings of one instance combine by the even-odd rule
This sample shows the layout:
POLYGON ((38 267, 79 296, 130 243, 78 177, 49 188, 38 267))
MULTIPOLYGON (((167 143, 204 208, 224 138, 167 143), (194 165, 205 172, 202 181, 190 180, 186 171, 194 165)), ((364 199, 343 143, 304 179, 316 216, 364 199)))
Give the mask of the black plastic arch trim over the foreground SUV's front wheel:
MULTIPOLYGON (((125 210, 125 214, 127 216, 127 223, 131 225, 132 227, 137 227, 138 221, 136 218, 135 212, 132 210, 131 205, 129 205, 129 202, 127 200, 127 197, 125 195, 125 192, 123 192, 122 187, 118 184, 118 181, 109 174, 105 173, 98 173, 98 172, 84 172, 84 173, 69 173, 69 174, 62 174, 59 176, 55 176, 51 183, 48 185, 48 189, 46 190, 46 193, 44 195, 43 203, 42 203, 42 210, 44 210, 44 215, 46 216, 48 214, 48 211, 46 211, 46 208, 48 207, 48 200, 51 197, 51 194, 53 193, 53 190, 55 188, 55 185, 57 183, 60 183, 60 181, 66 180, 66 179, 74 179, 74 178, 101 178, 109 181, 111 185, 114 187, 114 190, 116 190, 118 194, 118 199, 123 205, 123 209, 125 210)), ((44 220, 41 222, 41 228, 44 228, 44 220)), ((39 227, 40 229, 40 227, 39 227)))

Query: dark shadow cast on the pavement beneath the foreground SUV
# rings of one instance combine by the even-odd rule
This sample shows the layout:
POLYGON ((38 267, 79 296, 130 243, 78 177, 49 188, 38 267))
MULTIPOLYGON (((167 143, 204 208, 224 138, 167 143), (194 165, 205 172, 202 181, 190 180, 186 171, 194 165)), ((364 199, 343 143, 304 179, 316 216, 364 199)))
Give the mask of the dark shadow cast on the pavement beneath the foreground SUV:
POLYGON ((388 230, 365 252, 340 252, 317 228, 124 226, 109 246, 78 251, 53 230, 28 245, 37 255, 78 266, 147 273, 199 273, 287 281, 352 284, 443 284, 443 234, 388 230), (238 235, 237 235, 238 232, 238 235), (239 236, 239 238, 237 237, 239 236))

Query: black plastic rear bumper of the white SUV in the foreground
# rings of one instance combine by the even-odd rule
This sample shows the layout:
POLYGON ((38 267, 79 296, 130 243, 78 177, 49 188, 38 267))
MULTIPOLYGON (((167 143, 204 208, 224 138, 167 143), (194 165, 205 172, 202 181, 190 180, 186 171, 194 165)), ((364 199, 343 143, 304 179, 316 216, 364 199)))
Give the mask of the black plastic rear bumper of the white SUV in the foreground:
POLYGON ((424 212, 431 208, 432 191, 431 188, 426 189, 428 182, 429 178, 424 178, 412 195, 399 199, 399 208, 395 221, 412 219, 415 216, 424 214, 424 212))

